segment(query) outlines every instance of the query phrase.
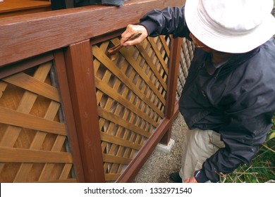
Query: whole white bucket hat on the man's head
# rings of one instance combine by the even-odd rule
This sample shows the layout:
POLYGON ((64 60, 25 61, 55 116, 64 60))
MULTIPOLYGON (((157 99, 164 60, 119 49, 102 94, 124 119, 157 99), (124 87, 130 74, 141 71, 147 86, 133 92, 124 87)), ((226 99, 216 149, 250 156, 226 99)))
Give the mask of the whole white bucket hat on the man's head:
POLYGON ((245 53, 275 34, 273 0, 187 0, 192 34, 216 51, 245 53))

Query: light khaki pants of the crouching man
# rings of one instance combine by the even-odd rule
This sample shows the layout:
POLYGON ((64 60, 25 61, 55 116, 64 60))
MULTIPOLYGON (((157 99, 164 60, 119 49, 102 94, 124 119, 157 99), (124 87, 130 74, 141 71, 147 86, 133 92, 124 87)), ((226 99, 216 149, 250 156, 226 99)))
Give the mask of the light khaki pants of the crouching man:
POLYGON ((193 177, 196 170, 202 169, 202 163, 219 148, 224 147, 221 135, 212 130, 188 130, 183 140, 180 176, 183 182, 193 177))

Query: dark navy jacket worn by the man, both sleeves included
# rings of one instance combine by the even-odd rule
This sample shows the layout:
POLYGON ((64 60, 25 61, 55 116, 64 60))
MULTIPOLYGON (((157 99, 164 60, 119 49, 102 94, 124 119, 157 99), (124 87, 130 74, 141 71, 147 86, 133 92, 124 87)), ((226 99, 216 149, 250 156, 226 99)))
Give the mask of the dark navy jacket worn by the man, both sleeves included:
MULTIPOLYGON (((173 34, 190 39, 184 6, 151 11, 140 24, 152 37, 173 34)), ((205 66, 211 64, 209 59, 209 53, 195 49, 179 103, 190 129, 219 132, 226 145, 203 163, 198 182, 218 182, 216 172, 226 174, 250 163, 267 137, 275 112, 273 38, 250 52, 233 54, 214 72, 205 66)))

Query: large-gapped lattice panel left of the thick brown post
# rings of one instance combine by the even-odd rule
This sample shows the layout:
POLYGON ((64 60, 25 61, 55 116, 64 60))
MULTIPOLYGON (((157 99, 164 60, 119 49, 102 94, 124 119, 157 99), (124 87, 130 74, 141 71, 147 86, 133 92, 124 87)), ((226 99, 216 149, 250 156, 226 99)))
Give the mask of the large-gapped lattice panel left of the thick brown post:
POLYGON ((76 182, 52 62, 0 80, 0 182, 76 182))

